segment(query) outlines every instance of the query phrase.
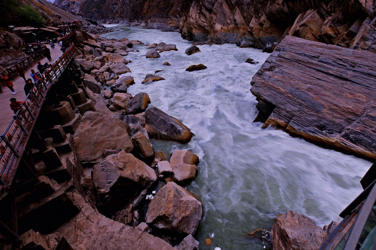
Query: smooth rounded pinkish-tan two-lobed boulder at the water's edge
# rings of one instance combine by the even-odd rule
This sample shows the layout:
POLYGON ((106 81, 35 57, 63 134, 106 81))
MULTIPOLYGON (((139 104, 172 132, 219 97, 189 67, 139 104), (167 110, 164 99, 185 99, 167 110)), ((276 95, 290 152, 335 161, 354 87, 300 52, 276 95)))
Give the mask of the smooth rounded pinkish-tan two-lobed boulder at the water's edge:
POLYGON ((174 181, 186 183, 196 177, 199 157, 190 151, 177 149, 172 153, 170 164, 174 181))

